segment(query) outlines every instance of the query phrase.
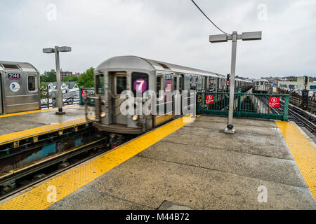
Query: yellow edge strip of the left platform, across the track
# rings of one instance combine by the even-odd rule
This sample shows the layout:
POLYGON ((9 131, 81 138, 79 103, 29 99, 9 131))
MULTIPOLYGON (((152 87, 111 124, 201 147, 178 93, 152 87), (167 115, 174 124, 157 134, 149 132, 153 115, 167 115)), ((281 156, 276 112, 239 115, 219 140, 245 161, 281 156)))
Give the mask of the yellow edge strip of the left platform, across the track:
POLYGON ((0 146, 14 142, 14 141, 20 141, 22 139, 37 137, 40 134, 57 132, 59 130, 64 130, 66 128, 75 127, 77 125, 81 125, 84 123, 86 123, 86 118, 79 118, 79 119, 75 119, 75 120, 68 120, 68 121, 54 124, 54 125, 45 125, 45 126, 41 126, 41 127, 35 127, 32 129, 28 129, 28 130, 23 130, 20 132, 3 134, 0 136, 0 146))

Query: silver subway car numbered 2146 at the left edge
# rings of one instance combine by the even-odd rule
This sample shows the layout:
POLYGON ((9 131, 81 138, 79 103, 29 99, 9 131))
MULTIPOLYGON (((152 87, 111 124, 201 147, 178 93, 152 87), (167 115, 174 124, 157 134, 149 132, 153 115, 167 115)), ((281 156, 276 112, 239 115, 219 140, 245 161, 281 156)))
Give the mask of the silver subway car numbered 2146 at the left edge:
POLYGON ((40 109, 39 85, 32 64, 0 61, 0 114, 40 109))

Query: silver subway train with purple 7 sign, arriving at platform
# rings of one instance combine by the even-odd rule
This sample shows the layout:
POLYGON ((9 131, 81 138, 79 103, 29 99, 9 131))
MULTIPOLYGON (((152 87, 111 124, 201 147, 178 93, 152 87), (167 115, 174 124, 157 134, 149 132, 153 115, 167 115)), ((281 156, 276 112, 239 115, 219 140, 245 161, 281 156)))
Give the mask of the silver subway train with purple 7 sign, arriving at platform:
POLYGON ((190 100, 190 90, 220 91, 224 89, 222 83, 223 76, 208 71, 136 56, 112 57, 95 71, 96 97, 91 97, 95 102, 93 125, 100 131, 115 134, 142 134, 184 114, 184 111, 192 111, 194 106, 190 100), (175 90, 179 94, 174 94, 175 90), (149 106, 148 114, 143 109, 150 97, 155 100, 156 105, 152 105, 157 110, 152 113, 149 106), (190 104, 185 110, 181 97, 185 97, 190 104), (178 113, 175 99, 179 99, 181 106, 178 113), (129 100, 133 113, 130 113, 129 100), (139 107, 140 104, 143 109, 139 107), (139 108, 140 113, 134 113, 139 108))

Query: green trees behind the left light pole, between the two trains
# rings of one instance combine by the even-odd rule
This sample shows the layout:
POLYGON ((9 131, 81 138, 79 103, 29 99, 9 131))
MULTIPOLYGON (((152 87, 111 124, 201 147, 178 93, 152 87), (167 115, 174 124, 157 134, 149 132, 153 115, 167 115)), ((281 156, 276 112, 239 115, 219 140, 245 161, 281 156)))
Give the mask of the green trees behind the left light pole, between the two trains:
MULTIPOLYGON (((40 76, 41 85, 46 83, 54 83, 56 79, 56 74, 53 71, 45 71, 44 74, 40 76)), ((65 76, 62 80, 63 82, 77 82, 79 87, 94 87, 94 68, 86 69, 84 73, 81 73, 81 76, 65 76)))

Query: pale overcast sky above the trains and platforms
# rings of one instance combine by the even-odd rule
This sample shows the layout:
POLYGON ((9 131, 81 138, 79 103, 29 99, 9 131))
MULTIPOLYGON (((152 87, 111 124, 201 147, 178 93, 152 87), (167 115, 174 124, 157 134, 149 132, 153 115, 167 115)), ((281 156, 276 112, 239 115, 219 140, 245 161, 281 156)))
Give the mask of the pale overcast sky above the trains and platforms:
MULTIPOLYGON (((195 0, 223 31, 263 31, 238 41, 236 73, 249 78, 316 75, 316 0, 195 0)), ((69 45, 64 71, 83 72, 105 59, 137 55, 230 73, 231 42, 190 0, 0 0, 0 60, 55 69, 42 48, 69 45)))

